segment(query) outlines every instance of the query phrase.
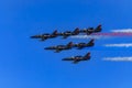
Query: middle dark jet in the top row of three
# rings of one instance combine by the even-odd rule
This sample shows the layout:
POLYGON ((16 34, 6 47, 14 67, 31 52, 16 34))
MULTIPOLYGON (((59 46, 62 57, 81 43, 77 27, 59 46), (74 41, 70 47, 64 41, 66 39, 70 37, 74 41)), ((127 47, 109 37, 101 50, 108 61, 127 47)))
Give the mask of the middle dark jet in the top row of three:
POLYGON ((66 32, 59 33, 59 35, 63 36, 63 38, 67 38, 70 35, 78 35, 78 34, 79 34, 78 28, 76 28, 74 32, 66 31, 66 32))

